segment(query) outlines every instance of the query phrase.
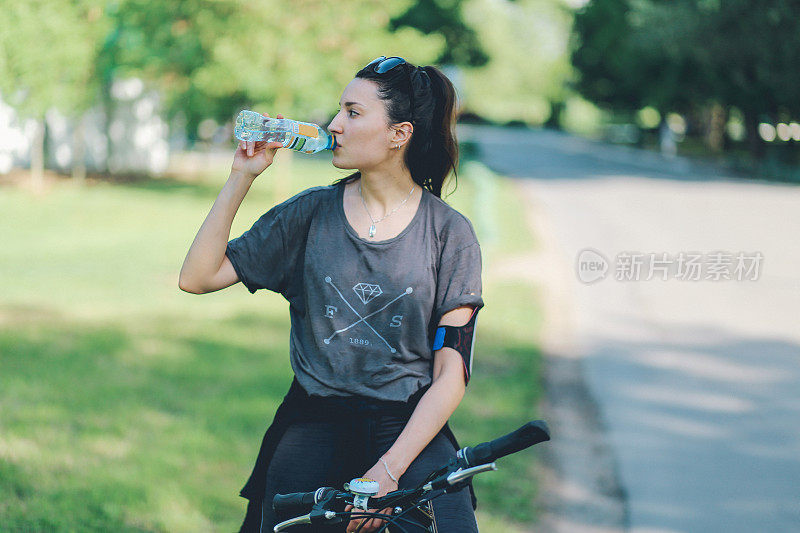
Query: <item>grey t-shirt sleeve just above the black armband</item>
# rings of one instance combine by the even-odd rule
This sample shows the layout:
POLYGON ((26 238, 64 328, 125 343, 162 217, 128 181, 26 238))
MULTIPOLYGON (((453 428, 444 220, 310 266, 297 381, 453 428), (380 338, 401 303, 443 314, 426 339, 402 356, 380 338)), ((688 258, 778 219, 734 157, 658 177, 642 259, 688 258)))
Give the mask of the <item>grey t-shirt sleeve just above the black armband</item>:
POLYGON ((449 232, 442 247, 436 283, 433 326, 442 316, 465 305, 483 307, 481 247, 472 225, 466 219, 449 232))

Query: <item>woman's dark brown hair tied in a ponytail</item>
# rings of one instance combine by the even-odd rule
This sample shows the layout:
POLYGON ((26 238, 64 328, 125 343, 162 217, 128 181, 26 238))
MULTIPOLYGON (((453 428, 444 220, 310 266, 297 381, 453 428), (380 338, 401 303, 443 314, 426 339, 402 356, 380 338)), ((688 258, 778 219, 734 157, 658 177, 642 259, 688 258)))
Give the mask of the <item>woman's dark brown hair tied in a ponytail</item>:
MULTIPOLYGON (((456 91, 453 84, 436 67, 411 64, 400 65, 383 74, 378 74, 369 65, 359 70, 356 78, 372 80, 378 85, 378 97, 386 103, 390 124, 411 122, 414 125, 405 154, 406 167, 415 183, 441 198, 450 171, 454 179, 458 178, 456 91), (410 90, 414 91, 414 109, 411 109, 410 90)), ((334 184, 360 177, 361 173, 355 172, 334 184)))

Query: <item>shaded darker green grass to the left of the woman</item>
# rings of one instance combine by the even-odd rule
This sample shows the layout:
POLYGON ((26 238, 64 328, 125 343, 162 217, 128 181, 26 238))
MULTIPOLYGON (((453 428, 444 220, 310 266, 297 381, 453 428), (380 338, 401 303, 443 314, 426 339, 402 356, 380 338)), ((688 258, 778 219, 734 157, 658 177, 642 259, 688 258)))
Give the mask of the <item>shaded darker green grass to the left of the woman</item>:
POLYGON ((291 381, 283 321, 132 327, 4 311, 3 528, 238 526, 238 490, 291 381))

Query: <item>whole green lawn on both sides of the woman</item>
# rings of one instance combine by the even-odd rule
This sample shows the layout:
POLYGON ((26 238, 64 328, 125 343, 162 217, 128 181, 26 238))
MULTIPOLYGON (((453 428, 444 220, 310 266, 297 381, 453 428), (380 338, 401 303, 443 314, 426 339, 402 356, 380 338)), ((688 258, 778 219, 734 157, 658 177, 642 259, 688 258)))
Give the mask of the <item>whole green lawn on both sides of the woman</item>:
MULTIPOLYGON (((465 172, 448 198, 471 217, 484 251, 475 375, 452 419, 462 444, 534 418, 539 395, 535 293, 492 275, 534 243, 516 224, 522 205, 511 186, 479 174, 465 172)), ((238 528, 238 491, 291 369, 280 296, 177 287, 226 175, 83 189, 65 181, 43 197, 0 189, 1 531, 238 528)), ((232 236, 276 189, 342 173, 297 156, 291 175, 289 184, 256 181, 232 236)), ((534 518, 533 458, 506 458, 476 480, 482 530, 534 518)))

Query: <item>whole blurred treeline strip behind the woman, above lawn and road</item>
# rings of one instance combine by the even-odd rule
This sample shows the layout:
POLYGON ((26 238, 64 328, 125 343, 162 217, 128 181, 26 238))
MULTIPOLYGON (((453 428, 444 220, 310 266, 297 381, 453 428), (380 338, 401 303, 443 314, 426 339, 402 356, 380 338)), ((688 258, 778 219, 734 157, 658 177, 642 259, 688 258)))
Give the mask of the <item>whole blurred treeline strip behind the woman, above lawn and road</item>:
POLYGON ((0 174, 163 173, 186 150, 227 149, 245 107, 326 123, 358 67, 387 54, 445 68, 462 122, 563 129, 798 179, 792 2, 292 6, 7 3, 0 174))

